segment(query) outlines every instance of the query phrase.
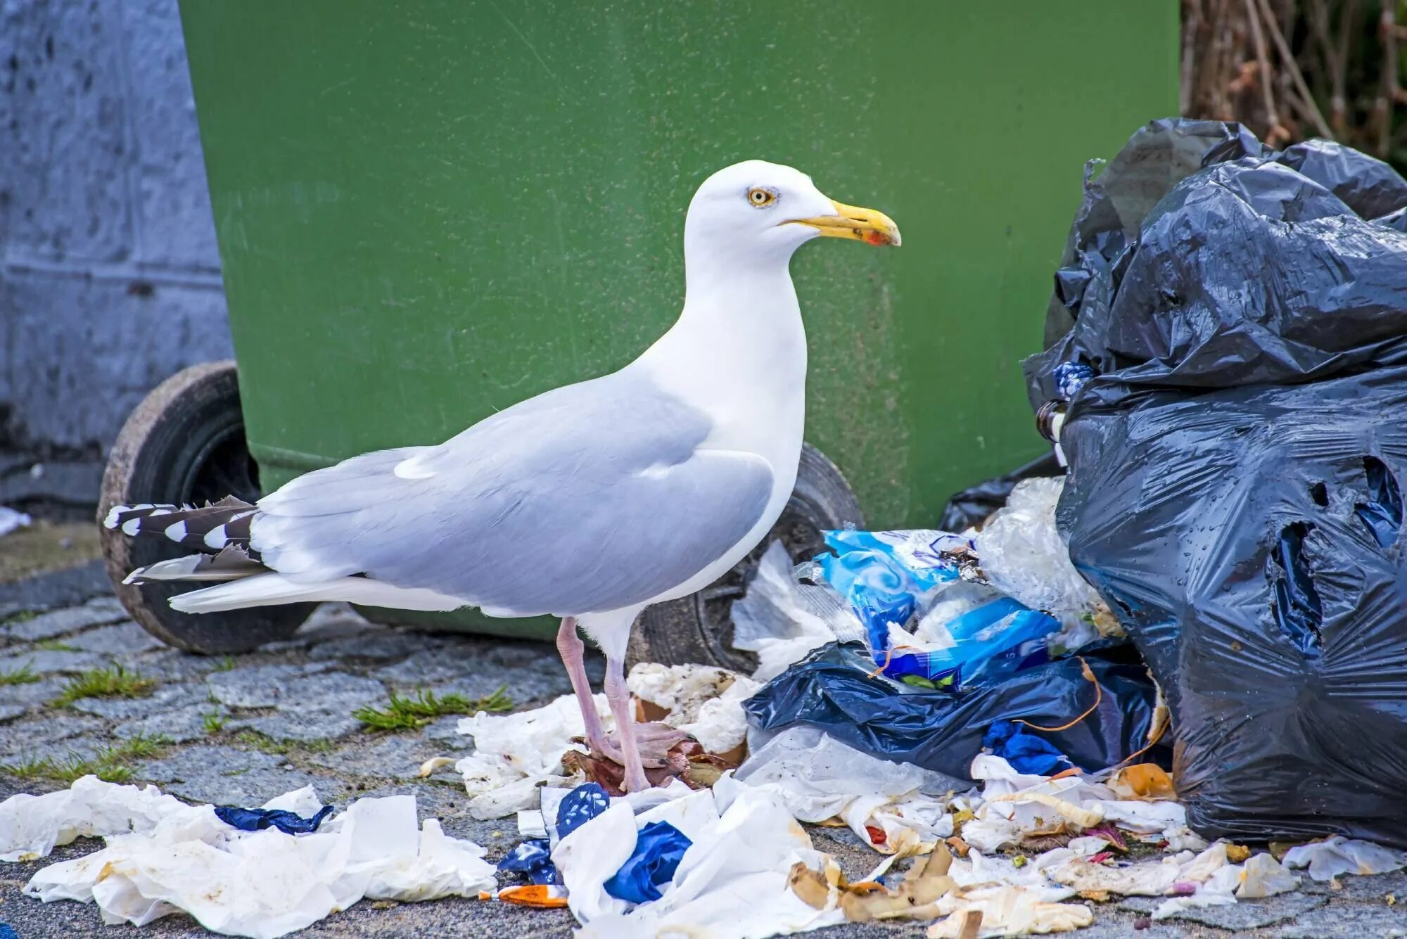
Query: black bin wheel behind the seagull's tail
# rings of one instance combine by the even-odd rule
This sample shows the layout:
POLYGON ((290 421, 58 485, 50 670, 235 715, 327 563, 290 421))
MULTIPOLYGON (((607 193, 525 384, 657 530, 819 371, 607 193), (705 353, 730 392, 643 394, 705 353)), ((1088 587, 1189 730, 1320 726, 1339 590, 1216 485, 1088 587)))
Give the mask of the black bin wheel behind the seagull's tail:
POLYGON ((101 526, 114 505, 196 503, 227 495, 259 498, 259 471, 245 443, 235 363, 191 365, 158 385, 131 413, 113 444, 98 499, 98 533, 113 589, 142 628, 187 652, 248 652, 286 640, 314 603, 259 606, 228 613, 177 613, 167 600, 191 583, 125 586, 132 568, 190 554, 160 538, 129 538, 101 526))

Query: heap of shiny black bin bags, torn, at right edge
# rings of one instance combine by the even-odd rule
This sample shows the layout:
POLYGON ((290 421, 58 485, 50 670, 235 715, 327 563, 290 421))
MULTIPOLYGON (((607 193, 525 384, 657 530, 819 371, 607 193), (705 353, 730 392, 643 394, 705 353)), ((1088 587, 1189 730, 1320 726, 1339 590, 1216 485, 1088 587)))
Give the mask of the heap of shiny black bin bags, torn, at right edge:
POLYGON ((1407 846, 1404 205, 1335 143, 1154 122, 1086 186, 1024 363, 1033 406, 1068 399, 1057 519, 1206 836, 1407 846))

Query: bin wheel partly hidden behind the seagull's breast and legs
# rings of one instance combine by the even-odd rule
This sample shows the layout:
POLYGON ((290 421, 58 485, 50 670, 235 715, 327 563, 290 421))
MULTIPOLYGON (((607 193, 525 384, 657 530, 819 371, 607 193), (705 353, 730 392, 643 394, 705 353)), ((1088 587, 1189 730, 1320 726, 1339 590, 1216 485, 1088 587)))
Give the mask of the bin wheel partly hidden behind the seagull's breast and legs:
POLYGON ((733 600, 747 592, 763 554, 774 540, 781 538, 794 561, 805 561, 826 550, 823 531, 847 524, 864 526, 864 516, 850 484, 836 464, 805 444, 791 500, 761 544, 698 593, 646 609, 630 631, 628 665, 694 662, 753 672, 757 656, 732 647, 730 610, 733 600))

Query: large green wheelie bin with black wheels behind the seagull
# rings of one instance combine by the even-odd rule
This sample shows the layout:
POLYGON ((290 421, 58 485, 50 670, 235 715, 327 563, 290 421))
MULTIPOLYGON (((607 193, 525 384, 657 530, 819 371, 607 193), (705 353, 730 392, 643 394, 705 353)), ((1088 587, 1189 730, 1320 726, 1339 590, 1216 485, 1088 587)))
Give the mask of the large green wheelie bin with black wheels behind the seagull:
MULTIPOLYGON (((1082 167, 1178 105, 1176 0, 186 0, 182 18, 238 368, 144 402, 104 507, 252 499, 623 365, 678 313, 694 188, 761 157, 905 239, 792 266, 810 447, 775 534, 801 558, 825 527, 933 524, 1043 450, 1017 363, 1082 167)), ((115 575, 170 551, 106 547, 115 575)), ((744 665, 727 607, 756 557, 647 611, 633 654, 744 665)), ((118 589, 205 652, 308 611, 187 617, 118 589)))

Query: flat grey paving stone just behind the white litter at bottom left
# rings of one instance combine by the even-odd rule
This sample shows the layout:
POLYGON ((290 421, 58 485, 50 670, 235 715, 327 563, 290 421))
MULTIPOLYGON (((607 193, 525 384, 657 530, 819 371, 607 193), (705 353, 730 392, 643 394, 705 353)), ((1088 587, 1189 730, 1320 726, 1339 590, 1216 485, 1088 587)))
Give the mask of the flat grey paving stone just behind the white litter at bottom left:
POLYGON ((217 805, 262 805, 274 796, 314 786, 319 797, 340 791, 338 783, 298 769, 287 769, 280 756, 232 746, 190 746, 141 763, 136 777, 158 783, 162 791, 217 805))

